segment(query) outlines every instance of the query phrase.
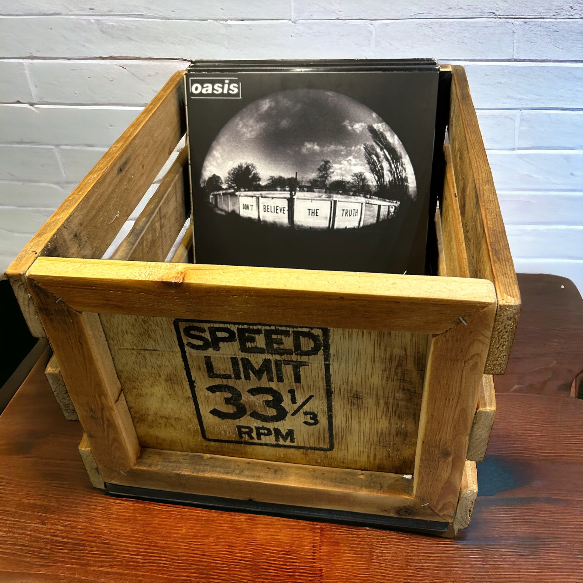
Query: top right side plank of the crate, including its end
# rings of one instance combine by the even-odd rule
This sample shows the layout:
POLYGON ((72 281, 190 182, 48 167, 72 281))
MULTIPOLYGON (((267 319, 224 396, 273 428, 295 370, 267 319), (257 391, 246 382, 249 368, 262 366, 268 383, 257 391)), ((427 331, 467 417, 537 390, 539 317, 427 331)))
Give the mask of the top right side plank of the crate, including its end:
POLYGON ((486 374, 504 373, 521 308, 518 282, 468 80, 452 66, 449 143, 458 189, 470 276, 490 279, 498 308, 486 374))

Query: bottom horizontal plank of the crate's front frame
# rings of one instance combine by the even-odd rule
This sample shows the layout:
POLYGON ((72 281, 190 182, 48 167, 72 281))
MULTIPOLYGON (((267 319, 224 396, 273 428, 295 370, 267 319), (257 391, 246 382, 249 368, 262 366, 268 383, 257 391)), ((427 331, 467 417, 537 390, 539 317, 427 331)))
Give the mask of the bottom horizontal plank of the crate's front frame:
POLYGON ((385 516, 442 520, 410 494, 410 478, 224 455, 142 450, 116 484, 385 516))

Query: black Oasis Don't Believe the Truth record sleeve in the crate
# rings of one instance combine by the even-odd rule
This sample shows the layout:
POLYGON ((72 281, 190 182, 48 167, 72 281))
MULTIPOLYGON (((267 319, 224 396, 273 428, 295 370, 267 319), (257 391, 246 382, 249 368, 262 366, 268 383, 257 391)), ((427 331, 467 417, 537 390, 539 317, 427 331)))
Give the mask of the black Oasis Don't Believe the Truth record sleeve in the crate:
POLYGON ((312 64, 189 68, 196 262, 424 273, 437 66, 312 64))

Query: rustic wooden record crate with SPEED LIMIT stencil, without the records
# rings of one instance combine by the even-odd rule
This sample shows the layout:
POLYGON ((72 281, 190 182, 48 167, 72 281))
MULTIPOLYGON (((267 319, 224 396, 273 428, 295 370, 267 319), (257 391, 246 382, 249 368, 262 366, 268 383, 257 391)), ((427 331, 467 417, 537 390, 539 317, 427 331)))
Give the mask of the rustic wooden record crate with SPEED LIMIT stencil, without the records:
POLYGON ((185 149, 101 259, 185 134, 184 72, 41 227, 6 273, 54 349, 51 385, 70 395, 95 486, 449 535, 468 525, 520 298, 465 72, 443 71, 440 276, 188 264, 188 241, 164 262, 190 212, 185 149))

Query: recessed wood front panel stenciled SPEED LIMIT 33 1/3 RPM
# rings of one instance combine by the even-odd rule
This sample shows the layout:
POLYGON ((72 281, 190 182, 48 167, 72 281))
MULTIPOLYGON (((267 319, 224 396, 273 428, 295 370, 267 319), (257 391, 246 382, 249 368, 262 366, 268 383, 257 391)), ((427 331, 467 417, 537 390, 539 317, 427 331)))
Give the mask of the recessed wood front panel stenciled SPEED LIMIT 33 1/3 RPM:
POLYGON ((201 337, 210 338, 212 322, 100 317, 143 447, 413 472, 426 334, 214 325, 233 334, 237 327, 258 329, 254 340, 244 346, 264 348, 270 336, 279 354, 269 354, 241 352, 239 341, 229 340, 225 329, 213 332, 224 339, 219 350, 189 349, 189 339, 202 346, 201 337), (326 346, 309 354, 314 336, 327 337, 328 354, 324 354, 326 346), (294 353, 294 341, 300 354, 294 353), (230 394, 223 385, 236 388, 242 396, 230 394), (253 390, 258 394, 250 395, 253 390), (240 417, 238 402, 246 410, 240 417), (222 418, 221 413, 237 418, 222 418))

